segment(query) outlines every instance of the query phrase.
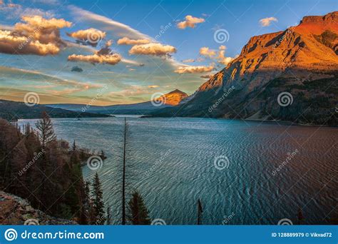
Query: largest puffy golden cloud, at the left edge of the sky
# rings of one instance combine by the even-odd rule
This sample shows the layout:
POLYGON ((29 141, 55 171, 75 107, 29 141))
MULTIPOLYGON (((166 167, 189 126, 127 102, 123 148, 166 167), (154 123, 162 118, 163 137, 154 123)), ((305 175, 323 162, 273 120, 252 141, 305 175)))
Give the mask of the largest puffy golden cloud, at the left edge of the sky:
POLYGON ((0 52, 5 54, 58 54, 66 44, 61 40, 60 29, 70 27, 64 19, 44 19, 41 16, 22 16, 13 31, 0 30, 0 52))

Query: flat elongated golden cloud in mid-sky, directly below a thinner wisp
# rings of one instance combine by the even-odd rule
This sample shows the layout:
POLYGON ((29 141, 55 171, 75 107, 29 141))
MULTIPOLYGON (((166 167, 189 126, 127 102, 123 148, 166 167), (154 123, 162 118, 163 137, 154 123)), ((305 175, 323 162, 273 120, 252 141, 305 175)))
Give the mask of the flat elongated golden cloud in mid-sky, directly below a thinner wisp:
POLYGON ((129 54, 143 54, 153 56, 164 56, 176 52, 175 47, 162 44, 135 45, 129 50, 129 54))

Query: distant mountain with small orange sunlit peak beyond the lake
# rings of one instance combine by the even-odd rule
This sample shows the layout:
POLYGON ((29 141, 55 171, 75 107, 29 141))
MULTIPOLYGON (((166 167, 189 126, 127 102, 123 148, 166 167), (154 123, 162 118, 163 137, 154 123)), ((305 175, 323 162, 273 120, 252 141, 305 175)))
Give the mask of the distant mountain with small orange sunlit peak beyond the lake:
POLYGON ((46 106, 52 108, 63 108, 70 111, 83 111, 86 108, 87 112, 91 113, 105 113, 105 114, 138 114, 144 115, 160 108, 168 108, 178 106, 188 94, 178 89, 163 94, 155 98, 153 101, 146 101, 143 103, 121 104, 112 106, 88 106, 83 104, 48 104, 46 106))

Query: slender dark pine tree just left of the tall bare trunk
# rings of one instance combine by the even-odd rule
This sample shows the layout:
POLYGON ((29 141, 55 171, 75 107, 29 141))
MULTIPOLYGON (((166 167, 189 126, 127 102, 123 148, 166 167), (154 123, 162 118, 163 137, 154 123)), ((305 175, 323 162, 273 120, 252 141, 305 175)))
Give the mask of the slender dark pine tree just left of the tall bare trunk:
POLYGON ((96 225, 103 225, 106 222, 106 216, 104 212, 103 191, 98 173, 93 178, 92 198, 96 225))

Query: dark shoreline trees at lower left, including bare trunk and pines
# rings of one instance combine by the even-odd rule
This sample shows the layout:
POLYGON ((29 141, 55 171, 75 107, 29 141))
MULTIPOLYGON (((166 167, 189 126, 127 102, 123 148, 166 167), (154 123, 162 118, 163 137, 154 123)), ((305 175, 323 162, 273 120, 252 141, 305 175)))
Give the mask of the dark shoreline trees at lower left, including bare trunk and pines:
MULTIPOLYGON (((70 147, 58 140, 46 112, 35 127, 27 123, 20 128, 0 119, 0 190, 26 198, 48 215, 83 225, 112 224, 111 206, 106 208, 103 203, 98 173, 91 182, 83 179, 83 155, 75 141, 70 147)), ((121 223, 148 225, 150 218, 141 195, 134 190, 126 199, 126 121, 124 135, 121 223)))

